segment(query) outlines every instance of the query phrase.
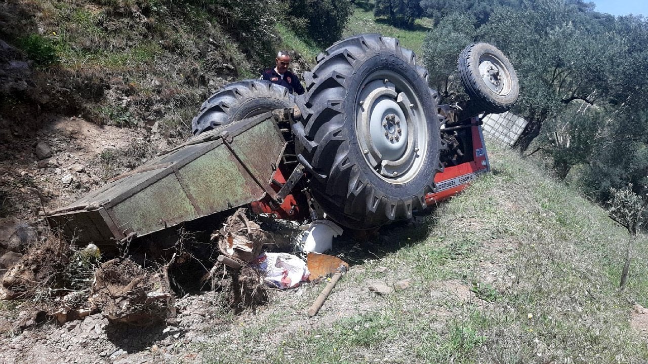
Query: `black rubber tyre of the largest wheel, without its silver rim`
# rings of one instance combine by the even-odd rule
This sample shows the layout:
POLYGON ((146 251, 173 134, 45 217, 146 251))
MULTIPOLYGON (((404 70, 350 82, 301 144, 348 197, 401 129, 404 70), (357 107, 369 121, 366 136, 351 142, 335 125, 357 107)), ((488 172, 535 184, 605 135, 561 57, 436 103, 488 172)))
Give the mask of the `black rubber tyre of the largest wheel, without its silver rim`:
POLYGON ((434 175, 441 168, 441 137, 437 94, 428 87, 427 73, 416 65, 413 52, 393 38, 362 34, 327 49, 304 76, 307 93, 300 104, 303 120, 293 126, 295 149, 313 168, 312 194, 330 218, 352 229, 372 229, 424 209, 424 196, 434 189, 434 175), (378 176, 365 161, 356 135, 360 87, 383 69, 410 86, 427 119, 426 159, 407 183, 378 176))

